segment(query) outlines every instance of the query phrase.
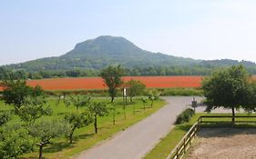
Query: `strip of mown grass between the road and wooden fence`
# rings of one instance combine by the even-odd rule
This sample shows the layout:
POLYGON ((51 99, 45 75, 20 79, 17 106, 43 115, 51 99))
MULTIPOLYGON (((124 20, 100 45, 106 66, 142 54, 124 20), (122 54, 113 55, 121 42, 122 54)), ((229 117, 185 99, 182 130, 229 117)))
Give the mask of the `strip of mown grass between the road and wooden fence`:
MULTIPOLYGON (((175 127, 170 130, 169 134, 167 134, 164 138, 161 139, 159 144, 157 144, 148 154, 145 155, 143 159, 166 159, 169 153, 175 148, 182 137, 189 131, 189 128, 198 120, 200 115, 231 115, 231 114, 195 114, 189 121, 189 123, 185 124, 177 124, 175 127)), ((236 114, 236 115, 250 115, 250 114, 236 114)), ((254 115, 255 114, 251 114, 254 115)), ((236 118, 236 121, 255 121, 256 118, 236 118)), ((226 122, 219 124, 203 124, 203 126, 212 126, 212 127, 220 127, 220 126, 235 126, 237 128, 246 128, 246 127, 256 127, 255 124, 235 124, 231 125, 230 117, 225 118, 207 118, 205 121, 214 121, 214 122, 226 122)))

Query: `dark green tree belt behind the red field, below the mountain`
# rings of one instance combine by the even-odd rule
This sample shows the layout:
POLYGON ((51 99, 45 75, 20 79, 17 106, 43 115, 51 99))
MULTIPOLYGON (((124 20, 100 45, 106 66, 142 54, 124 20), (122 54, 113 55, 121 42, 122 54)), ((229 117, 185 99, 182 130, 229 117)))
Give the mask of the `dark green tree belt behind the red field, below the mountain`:
MULTIPOLYGON (((210 75, 212 70, 219 67, 194 65, 186 66, 151 66, 151 67, 137 67, 124 69, 125 75, 210 75)), ((248 67, 247 70, 251 74, 256 74, 256 69, 248 67)), ((82 77, 82 76, 99 76, 100 70, 92 69, 74 69, 74 70, 43 70, 39 72, 27 72, 25 70, 10 71, 4 67, 0 67, 0 80, 3 79, 42 79, 42 78, 55 78, 55 77, 82 77)))

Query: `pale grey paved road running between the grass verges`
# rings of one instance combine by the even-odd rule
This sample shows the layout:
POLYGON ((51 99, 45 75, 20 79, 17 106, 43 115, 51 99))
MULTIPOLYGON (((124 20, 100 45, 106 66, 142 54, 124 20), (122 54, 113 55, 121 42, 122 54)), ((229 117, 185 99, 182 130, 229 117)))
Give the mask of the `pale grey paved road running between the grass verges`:
MULTIPOLYGON (((201 97, 196 97, 200 100, 201 97)), ((191 104, 192 97, 164 97, 167 105, 108 141, 79 154, 77 159, 141 159, 169 133, 176 116, 191 104)))

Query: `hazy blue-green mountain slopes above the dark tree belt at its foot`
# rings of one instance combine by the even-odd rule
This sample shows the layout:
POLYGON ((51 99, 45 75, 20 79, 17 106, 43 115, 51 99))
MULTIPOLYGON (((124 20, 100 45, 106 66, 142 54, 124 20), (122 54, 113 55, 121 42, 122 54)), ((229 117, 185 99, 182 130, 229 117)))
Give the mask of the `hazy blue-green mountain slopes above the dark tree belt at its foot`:
POLYGON ((99 70, 108 65, 122 65, 125 68, 148 67, 221 67, 229 65, 245 65, 255 69, 255 63, 236 60, 194 60, 191 58, 152 53, 139 48, 123 37, 99 36, 96 39, 79 43, 65 55, 47 57, 17 65, 2 66, 11 70, 68 71, 75 69, 99 70))

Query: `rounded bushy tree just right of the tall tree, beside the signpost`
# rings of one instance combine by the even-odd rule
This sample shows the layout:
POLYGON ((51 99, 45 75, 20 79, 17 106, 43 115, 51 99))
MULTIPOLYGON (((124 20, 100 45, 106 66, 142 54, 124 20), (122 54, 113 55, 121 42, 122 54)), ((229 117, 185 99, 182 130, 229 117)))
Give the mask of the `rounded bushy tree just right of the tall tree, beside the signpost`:
POLYGON ((132 98, 134 96, 143 94, 146 85, 141 83, 140 81, 131 79, 127 82, 126 87, 128 87, 128 96, 130 102, 132 102, 132 98))

